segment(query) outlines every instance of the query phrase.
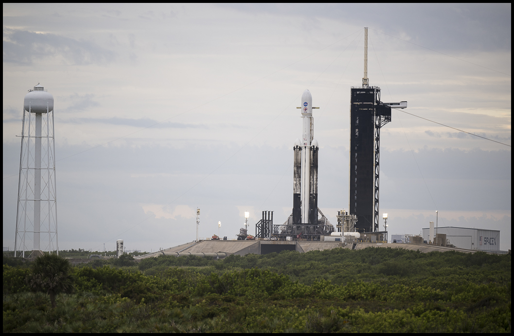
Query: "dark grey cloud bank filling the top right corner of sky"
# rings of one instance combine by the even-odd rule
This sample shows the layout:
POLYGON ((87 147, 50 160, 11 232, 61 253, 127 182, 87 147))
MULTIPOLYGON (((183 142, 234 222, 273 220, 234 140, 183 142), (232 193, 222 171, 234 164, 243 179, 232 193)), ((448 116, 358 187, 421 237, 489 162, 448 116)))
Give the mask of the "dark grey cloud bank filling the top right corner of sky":
MULTIPOLYGON (((510 50, 510 4, 218 4, 249 12, 333 19, 370 27, 427 48, 510 50), (401 20, 392 20, 401 17, 401 20), (371 25, 369 25, 372 23, 371 25)), ((304 23, 305 21, 302 21, 304 23)), ((376 31, 376 30, 378 31, 376 31)), ((385 37, 389 38, 389 37, 385 37)), ((396 39, 393 39, 396 40, 396 39)), ((396 40, 399 41, 399 40, 396 40)), ((402 42, 406 43, 406 42, 402 42)))

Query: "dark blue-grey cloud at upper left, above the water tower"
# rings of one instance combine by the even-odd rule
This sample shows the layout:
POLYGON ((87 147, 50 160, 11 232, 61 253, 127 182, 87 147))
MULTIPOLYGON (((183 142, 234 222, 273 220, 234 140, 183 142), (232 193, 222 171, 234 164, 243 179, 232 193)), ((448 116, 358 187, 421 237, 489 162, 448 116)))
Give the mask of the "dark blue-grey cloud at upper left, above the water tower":
POLYGON ((62 57, 73 65, 107 64, 115 52, 94 42, 75 40, 51 33, 4 28, 4 63, 30 65, 41 58, 62 57))

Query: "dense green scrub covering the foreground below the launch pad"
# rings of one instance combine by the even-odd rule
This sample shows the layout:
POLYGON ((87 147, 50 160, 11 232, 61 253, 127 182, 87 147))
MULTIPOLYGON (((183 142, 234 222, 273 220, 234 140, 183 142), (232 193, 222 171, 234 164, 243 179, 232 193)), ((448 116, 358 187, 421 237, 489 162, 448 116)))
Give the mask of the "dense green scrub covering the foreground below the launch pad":
POLYGON ((74 267, 57 307, 4 260, 4 332, 509 332, 511 256, 369 248, 74 267))

